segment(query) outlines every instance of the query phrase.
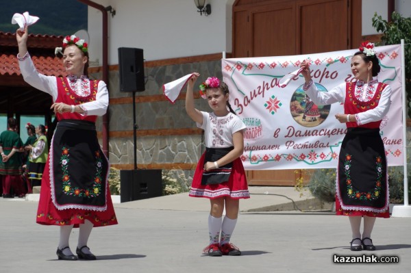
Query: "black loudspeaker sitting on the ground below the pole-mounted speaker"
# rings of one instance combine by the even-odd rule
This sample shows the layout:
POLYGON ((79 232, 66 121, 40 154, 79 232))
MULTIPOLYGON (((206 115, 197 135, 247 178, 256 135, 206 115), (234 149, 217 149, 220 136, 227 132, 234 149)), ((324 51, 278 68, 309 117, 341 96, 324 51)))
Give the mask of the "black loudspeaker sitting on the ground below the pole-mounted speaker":
POLYGON ((162 196, 161 170, 120 170, 120 202, 162 196))

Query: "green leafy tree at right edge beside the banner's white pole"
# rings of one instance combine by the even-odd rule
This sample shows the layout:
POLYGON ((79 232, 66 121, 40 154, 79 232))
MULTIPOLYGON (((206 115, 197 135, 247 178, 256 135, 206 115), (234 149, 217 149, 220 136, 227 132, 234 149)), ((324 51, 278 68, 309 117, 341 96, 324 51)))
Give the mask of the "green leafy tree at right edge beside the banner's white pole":
POLYGON ((382 44, 400 44, 404 39, 406 44, 406 94, 408 116, 411 117, 411 18, 403 18, 398 12, 393 12, 392 20, 387 22, 375 12, 373 27, 382 32, 382 44))

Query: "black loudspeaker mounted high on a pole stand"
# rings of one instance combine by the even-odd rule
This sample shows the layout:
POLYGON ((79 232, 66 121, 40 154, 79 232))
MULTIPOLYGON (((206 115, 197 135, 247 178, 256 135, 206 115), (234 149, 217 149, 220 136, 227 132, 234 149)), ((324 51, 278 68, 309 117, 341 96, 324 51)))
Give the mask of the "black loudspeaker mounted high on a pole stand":
POLYGON ((145 90, 142 49, 119 47, 120 92, 145 90))

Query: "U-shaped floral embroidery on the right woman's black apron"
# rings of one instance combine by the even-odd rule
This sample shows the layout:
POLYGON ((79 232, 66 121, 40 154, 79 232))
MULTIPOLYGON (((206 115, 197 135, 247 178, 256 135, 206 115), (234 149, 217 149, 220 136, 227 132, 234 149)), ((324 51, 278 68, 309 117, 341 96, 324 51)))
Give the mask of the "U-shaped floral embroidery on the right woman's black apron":
POLYGON ((375 158, 375 170, 377 171, 377 180, 375 182, 374 190, 370 192, 360 192, 359 190, 355 190, 352 185, 351 176, 349 171, 351 169, 351 155, 345 155, 345 162, 344 162, 344 170, 345 176, 347 177, 347 194, 349 198, 356 198, 360 200, 376 200, 379 198, 381 194, 381 184, 382 184, 382 158, 376 157, 375 158))

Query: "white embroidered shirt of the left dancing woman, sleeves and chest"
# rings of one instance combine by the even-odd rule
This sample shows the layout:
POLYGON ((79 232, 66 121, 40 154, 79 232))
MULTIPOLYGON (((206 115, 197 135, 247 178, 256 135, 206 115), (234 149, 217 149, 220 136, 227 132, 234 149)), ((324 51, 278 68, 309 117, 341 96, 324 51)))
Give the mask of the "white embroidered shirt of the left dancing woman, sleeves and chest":
MULTIPOLYGON (((57 77, 46 76, 38 73, 31 57, 17 57, 19 59, 18 64, 20 66, 21 75, 23 75, 25 82, 29 83, 30 86, 33 86, 38 90, 50 94, 53 97, 53 102, 55 102, 58 96, 57 77)), ((82 86, 81 81, 81 78, 77 79, 77 86, 82 86)), ((88 84, 88 89, 90 89, 90 84, 88 84)), ((79 90, 79 92, 76 92, 78 96, 84 96, 84 94, 82 94, 82 88, 78 88, 77 90, 79 90)), ((88 94, 90 94, 90 91, 88 92, 88 94)), ((99 81, 95 101, 82 103, 82 105, 80 106, 85 111, 82 115, 103 116, 108 107, 108 90, 105 82, 99 81)))

